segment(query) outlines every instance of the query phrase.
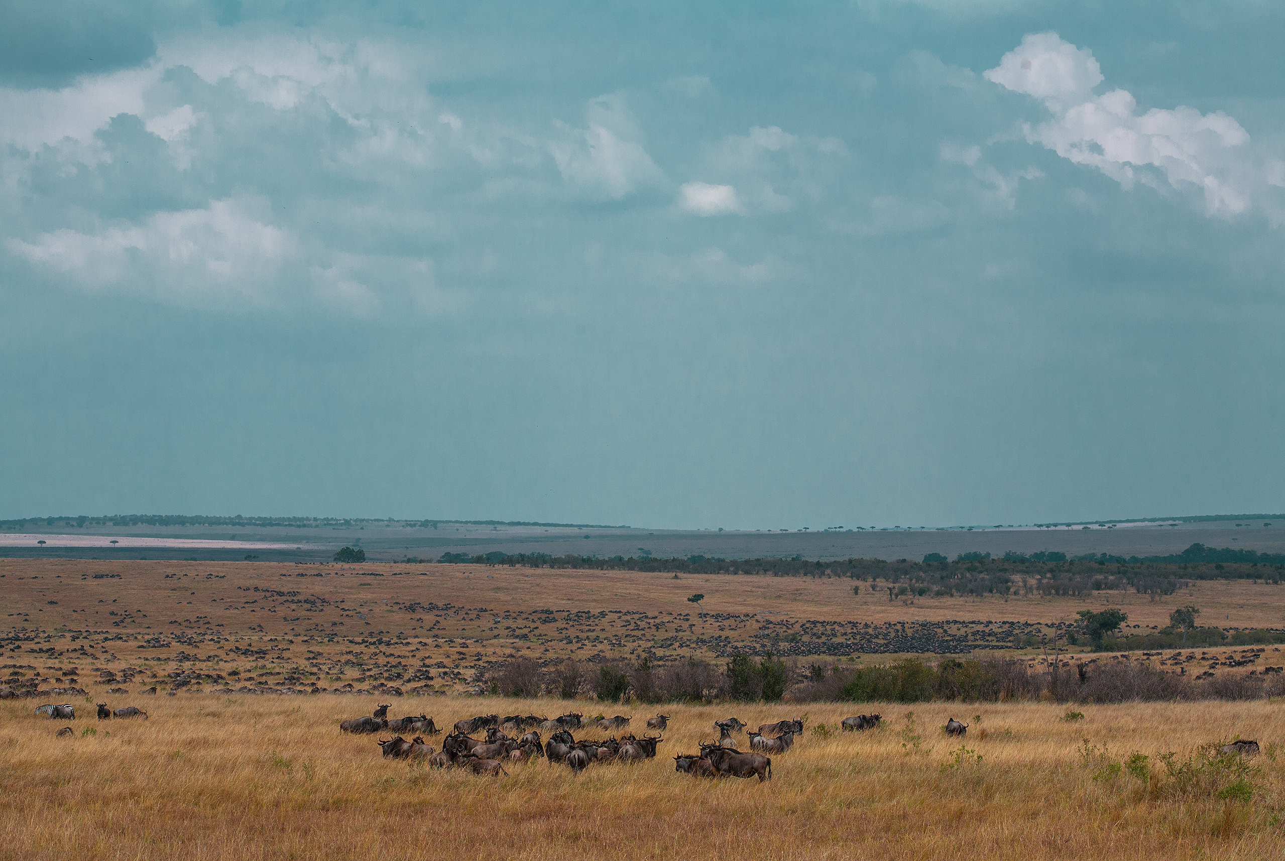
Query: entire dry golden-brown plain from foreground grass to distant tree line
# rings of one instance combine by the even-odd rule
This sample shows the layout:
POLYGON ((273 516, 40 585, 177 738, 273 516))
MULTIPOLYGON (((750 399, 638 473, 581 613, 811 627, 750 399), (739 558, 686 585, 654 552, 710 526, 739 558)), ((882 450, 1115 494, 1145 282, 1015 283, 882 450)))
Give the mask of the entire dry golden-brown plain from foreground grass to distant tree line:
MULTIPOLYGON (((1246 581, 1169 596, 912 603, 852 586, 468 564, 5 560, 4 684, 48 693, 0 700, 0 857, 1285 857, 1285 715, 1272 700, 1076 706, 1083 718, 1068 721, 1067 706, 1040 702, 649 707, 465 695, 515 655, 721 666, 767 648, 794 655, 802 673, 816 659, 912 654, 892 650, 905 623, 946 631, 956 657, 1038 663, 1042 649, 1014 648, 1013 632, 1051 631, 1085 607, 1110 603, 1144 626, 1186 603, 1236 627, 1273 627, 1285 612, 1285 590, 1246 581), (703 612, 687 601, 696 592, 703 612), (834 657, 838 636, 865 650, 834 657), (44 702, 72 703, 77 718, 33 715, 44 702), (96 721, 93 703, 148 717, 96 721), (537 759, 493 780, 383 759, 374 736, 339 732, 341 720, 380 703, 439 727, 486 713, 619 712, 641 735, 658 711, 671 721, 655 759, 580 775, 537 759), (838 731, 865 712, 882 713, 882 726, 838 731), (732 715, 752 726, 807 722, 774 757, 770 783, 675 772, 671 757, 712 740, 713 721, 732 715), (970 725, 965 738, 942 732, 948 717, 970 725), (63 726, 69 738, 55 736, 63 726), (1200 753, 1236 738, 1263 753, 1200 753)), ((1277 649, 1201 650, 1199 662, 1244 673, 1285 663, 1277 649)))

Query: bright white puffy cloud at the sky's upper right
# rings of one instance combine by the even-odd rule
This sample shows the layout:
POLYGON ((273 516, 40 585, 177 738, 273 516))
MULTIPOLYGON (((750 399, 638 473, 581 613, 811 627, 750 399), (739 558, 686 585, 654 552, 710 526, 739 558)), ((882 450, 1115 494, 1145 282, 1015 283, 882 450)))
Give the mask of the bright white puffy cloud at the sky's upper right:
POLYGON ((1210 215, 1232 216, 1266 185, 1267 168, 1232 117, 1185 105, 1139 114, 1126 90, 1095 95, 1104 78, 1092 51, 1056 33, 1028 35, 984 76, 1045 103, 1052 118, 1023 127, 1029 143, 1095 167, 1124 188, 1140 181, 1160 190, 1199 190, 1210 215))

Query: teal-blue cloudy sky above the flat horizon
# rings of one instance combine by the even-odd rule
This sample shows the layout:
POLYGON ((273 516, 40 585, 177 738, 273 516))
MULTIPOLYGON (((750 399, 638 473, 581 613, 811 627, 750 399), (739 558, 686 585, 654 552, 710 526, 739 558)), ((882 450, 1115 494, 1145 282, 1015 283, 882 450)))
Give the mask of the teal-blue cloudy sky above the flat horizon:
POLYGON ((1281 4, 0 3, 0 517, 1285 510, 1281 4))

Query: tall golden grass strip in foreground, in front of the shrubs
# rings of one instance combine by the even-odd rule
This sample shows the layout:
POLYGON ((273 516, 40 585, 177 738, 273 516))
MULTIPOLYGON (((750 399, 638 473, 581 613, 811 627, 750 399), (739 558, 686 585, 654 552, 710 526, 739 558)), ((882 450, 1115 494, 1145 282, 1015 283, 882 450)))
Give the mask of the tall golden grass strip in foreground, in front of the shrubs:
MULTIPOLYGON (((373 698, 130 702, 150 718, 99 722, 78 703, 89 720, 69 722, 71 739, 35 703, 0 703, 0 857, 1285 857, 1275 745, 1285 713, 1268 702, 1083 706, 1076 721, 1041 703, 671 706, 655 759, 580 776, 538 759, 499 780, 382 759, 373 736, 341 735, 338 721, 369 715, 373 698), (870 711, 880 729, 833 731, 870 711), (757 726, 804 712, 808 729, 774 757, 770 783, 673 771, 671 757, 711 739, 717 718, 757 726), (971 723, 962 743, 941 731, 952 716, 971 723), (1190 758, 1236 736, 1263 745, 1248 774, 1190 758)), ((389 712, 421 708, 447 726, 486 712, 617 713, 493 698, 398 700, 389 712)), ((641 735, 651 712, 619 713, 641 735)))

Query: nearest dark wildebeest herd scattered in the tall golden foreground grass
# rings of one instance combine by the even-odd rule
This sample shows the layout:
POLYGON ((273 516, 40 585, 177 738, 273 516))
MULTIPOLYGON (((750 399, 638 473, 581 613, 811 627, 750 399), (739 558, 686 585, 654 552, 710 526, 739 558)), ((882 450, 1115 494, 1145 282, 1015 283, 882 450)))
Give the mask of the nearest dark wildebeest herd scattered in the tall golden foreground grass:
MULTIPOLYGON (((98 720, 126 720, 141 717, 146 720, 148 713, 134 706, 111 709, 107 703, 96 703, 98 720)), ((58 721, 75 721, 76 707, 71 703, 46 703, 36 708, 36 715, 48 716, 58 721)), ((508 775, 505 765, 518 765, 531 759, 544 757, 550 763, 568 766, 572 772, 580 774, 592 763, 622 762, 634 763, 644 759, 654 759, 657 748, 664 741, 660 735, 644 732, 642 738, 636 738, 632 732, 607 739, 576 739, 572 731, 618 731, 628 727, 632 717, 616 715, 585 721, 580 712, 569 712, 555 718, 536 717, 535 715, 510 715, 501 718, 499 715, 479 715, 461 721, 456 721, 451 731, 442 739, 442 749, 434 750, 432 744, 424 740, 424 735, 438 735, 442 730, 437 727, 432 717, 427 715, 409 717, 388 717, 388 706, 379 706, 373 715, 355 717, 342 721, 339 730, 352 734, 383 734, 383 732, 415 732, 410 741, 401 735, 384 740, 379 738, 375 744, 384 757, 393 759, 423 759, 433 768, 461 768, 475 775, 500 776, 508 775), (486 738, 475 739, 474 732, 486 731, 486 738), (549 739, 541 739, 541 732, 547 732, 549 739)), ((882 715, 855 715, 839 722, 844 731, 862 731, 879 726, 882 715)), ((762 723, 757 730, 749 730, 744 721, 729 717, 714 721, 714 730, 718 732, 717 741, 702 743, 698 753, 680 753, 673 757, 673 768, 677 772, 696 777, 758 777, 759 783, 772 779, 772 761, 766 753, 783 754, 794 747, 794 739, 803 732, 806 718, 776 721, 775 723, 762 723), (747 731, 748 730, 748 731, 747 731), (749 750, 743 752, 736 748, 735 734, 744 732, 749 740, 749 750)), ((668 715, 657 715, 646 720, 648 730, 664 732, 669 725, 668 715)), ((962 723, 953 717, 942 727, 947 735, 964 736, 968 734, 968 723, 962 723)), ((64 726, 55 734, 58 738, 71 738, 75 731, 64 726)), ((1231 744, 1218 748, 1219 753, 1240 754, 1246 757, 1258 756, 1258 741, 1250 739, 1236 739, 1231 744)))

